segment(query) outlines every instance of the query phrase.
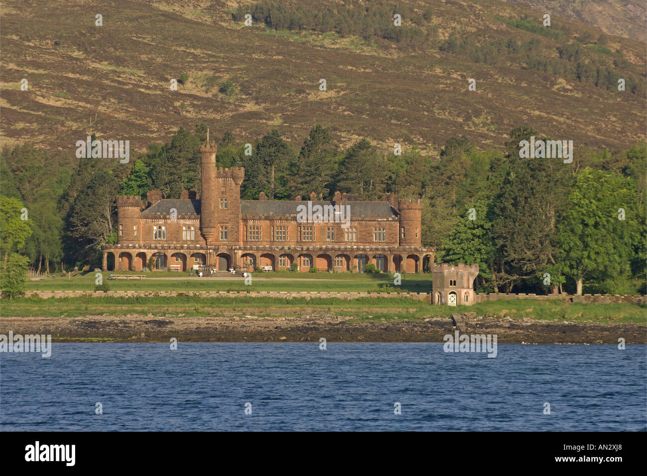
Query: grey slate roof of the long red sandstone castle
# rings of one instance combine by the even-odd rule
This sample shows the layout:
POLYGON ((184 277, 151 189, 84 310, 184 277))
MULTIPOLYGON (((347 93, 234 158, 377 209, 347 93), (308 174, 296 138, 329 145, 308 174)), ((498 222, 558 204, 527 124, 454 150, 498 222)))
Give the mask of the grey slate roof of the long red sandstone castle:
MULTIPOLYGON (((241 214, 243 215, 276 215, 294 216, 298 213, 297 207, 305 205, 307 201, 295 200, 241 200, 241 214)), ((333 205, 330 201, 313 201, 314 205, 333 205)), ((362 217, 395 219, 397 212, 391 208, 386 201, 346 201, 344 205, 350 205, 351 220, 362 217)), ((163 199, 142 211, 142 217, 155 214, 170 215, 171 209, 176 209, 178 215, 200 214, 200 200, 177 200, 163 199)))

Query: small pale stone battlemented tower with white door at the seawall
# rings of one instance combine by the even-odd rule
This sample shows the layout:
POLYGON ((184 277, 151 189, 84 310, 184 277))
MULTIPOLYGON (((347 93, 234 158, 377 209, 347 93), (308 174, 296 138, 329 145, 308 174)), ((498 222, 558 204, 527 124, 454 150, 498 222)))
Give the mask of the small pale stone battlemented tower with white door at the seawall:
POLYGON ((432 304, 471 306, 476 302, 472 284, 478 274, 477 264, 433 265, 432 304))

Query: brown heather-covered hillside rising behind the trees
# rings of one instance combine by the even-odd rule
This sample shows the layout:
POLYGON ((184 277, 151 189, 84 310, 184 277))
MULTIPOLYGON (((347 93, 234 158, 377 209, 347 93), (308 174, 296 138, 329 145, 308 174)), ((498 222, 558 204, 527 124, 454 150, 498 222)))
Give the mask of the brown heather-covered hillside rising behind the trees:
MULTIPOLYGON (((252 11, 256 3, 243 5, 252 11)), ((3 146, 33 141, 73 155, 76 141, 94 132, 100 139, 129 139, 131 150, 142 152, 197 122, 241 140, 277 128, 301 141, 320 123, 342 146, 366 137, 385 152, 394 142, 437 152, 463 133, 481 148, 501 146, 510 129, 526 123, 575 144, 626 148, 647 128, 644 43, 609 36, 598 45, 601 30, 558 16, 550 36, 524 29, 527 23, 512 26, 526 15, 541 21, 527 6, 406 1, 398 7, 402 28, 411 27, 420 41, 413 34, 400 41, 339 34, 333 27, 320 32, 307 24, 244 27, 232 18, 236 6, 3 2, 3 146), (97 13, 102 27, 94 25, 97 13), (597 62, 598 70, 597 79, 593 67, 593 79, 580 82, 572 78, 575 59, 560 58, 559 49, 575 45, 583 31, 593 40, 580 45, 582 61, 597 62), (452 38, 474 44, 452 50, 446 43, 452 38), (520 48, 499 54, 507 41, 520 48), (597 86, 599 65, 602 83, 632 76, 636 91, 597 86), (186 84, 170 91, 170 79, 183 73, 186 84), (20 90, 22 78, 28 91, 20 90), (319 90, 320 78, 327 91, 319 90), (476 79, 476 91, 467 90, 469 78, 476 79), (220 92, 226 80, 234 84, 230 95, 220 92)))

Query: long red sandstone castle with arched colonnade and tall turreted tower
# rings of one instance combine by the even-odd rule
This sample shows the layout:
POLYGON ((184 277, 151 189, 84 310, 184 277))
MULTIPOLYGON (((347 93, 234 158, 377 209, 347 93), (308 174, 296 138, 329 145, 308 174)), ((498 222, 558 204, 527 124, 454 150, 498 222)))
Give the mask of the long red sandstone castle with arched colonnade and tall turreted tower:
POLYGON ((308 205, 269 200, 241 200, 242 167, 217 168, 215 147, 202 146, 202 196, 184 190, 181 199, 164 199, 159 190, 138 196, 118 196, 118 244, 104 245, 104 270, 141 271, 149 258, 156 269, 186 271, 211 266, 217 271, 254 267, 298 271, 364 271, 373 263, 380 271, 421 273, 433 263, 435 250, 421 247, 419 199, 384 196, 383 201, 351 201, 336 192, 333 201, 308 205), (314 220, 298 218, 316 205, 337 215, 314 220), (347 210, 342 222, 338 210, 347 210), (328 220, 328 218, 333 218, 328 220), (114 264, 113 266, 111 266, 114 264))

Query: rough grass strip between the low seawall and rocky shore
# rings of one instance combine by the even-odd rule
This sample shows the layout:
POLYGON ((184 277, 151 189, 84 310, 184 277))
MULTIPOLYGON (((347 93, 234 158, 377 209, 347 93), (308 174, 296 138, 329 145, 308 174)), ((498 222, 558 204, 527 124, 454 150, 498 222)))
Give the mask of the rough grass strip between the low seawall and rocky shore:
POLYGON ((408 298, 281 299, 270 297, 80 297, 65 299, 3 299, 2 315, 14 317, 91 317, 93 315, 155 315, 201 317, 253 314, 261 317, 290 317, 324 312, 353 316, 360 321, 450 317, 452 313, 475 313, 490 317, 530 318, 545 321, 626 323, 646 325, 646 306, 638 304, 567 304, 562 301, 505 300, 474 306, 431 306, 408 298))

